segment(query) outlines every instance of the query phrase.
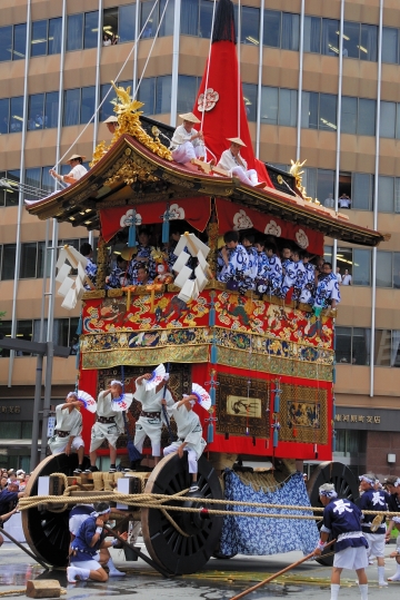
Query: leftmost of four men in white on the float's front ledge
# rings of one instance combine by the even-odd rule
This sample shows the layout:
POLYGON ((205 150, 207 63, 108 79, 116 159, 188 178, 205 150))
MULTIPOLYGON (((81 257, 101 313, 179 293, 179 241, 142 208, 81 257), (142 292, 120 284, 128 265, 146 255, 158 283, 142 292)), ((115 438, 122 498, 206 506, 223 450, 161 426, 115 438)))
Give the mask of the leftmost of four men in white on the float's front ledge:
POLYGON ((84 444, 81 437, 82 433, 82 415, 80 409, 83 404, 78 400, 74 392, 70 392, 64 404, 56 406, 56 430, 54 435, 49 440, 51 454, 66 452, 70 454, 72 450, 78 453, 79 465, 74 473, 82 472, 84 444))

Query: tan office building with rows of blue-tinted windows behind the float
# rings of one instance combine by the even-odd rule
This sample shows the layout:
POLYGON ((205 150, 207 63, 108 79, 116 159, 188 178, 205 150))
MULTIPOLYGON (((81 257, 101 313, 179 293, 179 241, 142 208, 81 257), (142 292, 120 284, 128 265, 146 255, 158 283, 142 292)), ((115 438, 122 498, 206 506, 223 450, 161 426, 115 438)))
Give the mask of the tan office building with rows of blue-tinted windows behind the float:
MULTIPOLYGON (((213 4, 3 0, 1 175, 53 190, 50 167, 62 159, 66 173, 72 153, 90 159, 96 144, 110 139, 103 121, 113 107, 113 95, 107 96, 111 80, 131 86, 146 115, 176 125, 177 115, 193 107, 213 4)), ((336 456, 354 470, 394 472, 400 465, 400 6, 397 0, 234 4, 257 156, 281 168, 307 158, 309 196, 331 207, 338 203, 352 222, 391 234, 377 249, 327 238, 326 257, 346 282, 341 286, 337 319, 336 456)), ((43 292, 51 292, 48 279, 43 287, 52 260, 46 247, 66 242, 79 247, 84 239, 86 228, 39 222, 16 191, 0 190, 6 335, 39 338, 43 292)), ((96 232, 90 239, 96 245, 96 232)), ((74 346, 79 312, 44 297, 46 312, 49 303, 54 306, 54 342, 74 346)), ((34 374, 34 357, 2 352, 0 453, 10 453, 7 461, 0 455, 2 462, 27 465, 34 374)), ((73 356, 54 360, 54 401, 73 387, 76 376, 73 356)))

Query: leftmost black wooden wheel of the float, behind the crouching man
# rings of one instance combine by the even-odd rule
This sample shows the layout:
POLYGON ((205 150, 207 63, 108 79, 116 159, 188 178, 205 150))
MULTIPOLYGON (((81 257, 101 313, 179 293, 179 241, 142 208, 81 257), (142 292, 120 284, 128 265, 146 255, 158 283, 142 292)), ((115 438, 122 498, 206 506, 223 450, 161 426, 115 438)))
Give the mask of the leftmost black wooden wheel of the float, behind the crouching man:
MULTIPOLYGON (((26 495, 38 494, 40 476, 52 473, 64 473, 72 476, 78 466, 78 455, 53 454, 44 459, 32 472, 26 489, 26 495)), ((51 512, 38 508, 22 511, 22 529, 29 548, 48 564, 66 567, 68 564, 68 548, 70 532, 68 518, 70 511, 51 512)))

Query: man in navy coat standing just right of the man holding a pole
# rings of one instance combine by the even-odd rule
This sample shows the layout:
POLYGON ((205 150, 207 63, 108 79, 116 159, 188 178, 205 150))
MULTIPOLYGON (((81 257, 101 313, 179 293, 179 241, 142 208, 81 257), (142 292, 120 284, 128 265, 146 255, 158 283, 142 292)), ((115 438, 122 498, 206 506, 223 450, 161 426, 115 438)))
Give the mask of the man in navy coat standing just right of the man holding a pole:
MULTIPOLYGON (((386 494, 381 490, 376 490, 377 478, 373 473, 367 473, 359 476, 360 489, 362 492, 360 499, 360 509, 362 511, 387 511, 388 504, 386 494)), ((388 586, 384 581, 384 517, 374 514, 364 514, 361 523, 362 532, 368 541, 368 558, 377 557, 378 560, 378 584, 388 586)))

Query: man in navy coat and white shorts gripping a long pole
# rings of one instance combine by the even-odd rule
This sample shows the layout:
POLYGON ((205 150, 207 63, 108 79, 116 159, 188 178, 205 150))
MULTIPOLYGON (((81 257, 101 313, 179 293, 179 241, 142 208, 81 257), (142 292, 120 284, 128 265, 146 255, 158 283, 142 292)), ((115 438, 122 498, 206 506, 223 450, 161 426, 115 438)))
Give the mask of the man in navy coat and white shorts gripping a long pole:
POLYGON ((321 485, 319 496, 323 505, 323 514, 320 529, 321 539, 314 550, 314 555, 321 555, 330 533, 337 540, 331 574, 331 600, 338 600, 340 576, 343 569, 356 571, 361 600, 368 600, 368 579, 366 574, 368 542, 361 531, 362 513, 350 500, 339 500, 332 483, 321 485))

